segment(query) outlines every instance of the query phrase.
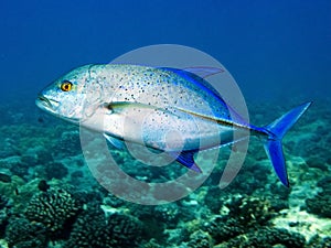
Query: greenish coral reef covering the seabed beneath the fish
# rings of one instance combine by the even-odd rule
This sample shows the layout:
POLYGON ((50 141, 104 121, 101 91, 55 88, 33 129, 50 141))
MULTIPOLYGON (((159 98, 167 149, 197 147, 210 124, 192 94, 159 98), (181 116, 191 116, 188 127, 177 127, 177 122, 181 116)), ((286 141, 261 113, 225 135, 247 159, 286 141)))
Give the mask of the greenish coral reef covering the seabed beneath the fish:
MULTIPOLYGON (((255 107, 265 123, 265 111, 255 107)), ((282 111, 264 108, 276 116, 282 111)), ((243 169, 226 188, 218 186, 229 154, 224 148, 200 188, 158 206, 129 203, 103 188, 81 154, 77 128, 47 118, 21 123, 23 116, 7 115, 7 122, 0 120, 0 238, 9 248, 329 248, 328 108, 317 112, 324 119, 307 115, 285 137, 290 188, 277 181, 260 143, 252 139, 243 169)), ((149 170, 124 151, 111 152, 143 182, 166 182, 186 170, 178 164, 149 170)))

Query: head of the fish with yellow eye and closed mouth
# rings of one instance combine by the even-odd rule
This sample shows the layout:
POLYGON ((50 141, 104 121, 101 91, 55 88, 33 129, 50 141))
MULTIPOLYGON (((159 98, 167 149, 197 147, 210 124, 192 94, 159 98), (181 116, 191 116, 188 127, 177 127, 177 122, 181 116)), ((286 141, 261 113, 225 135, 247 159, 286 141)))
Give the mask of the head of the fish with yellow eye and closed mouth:
POLYGON ((39 94, 36 106, 58 118, 79 122, 84 112, 86 85, 90 79, 90 66, 75 68, 46 86, 39 94))

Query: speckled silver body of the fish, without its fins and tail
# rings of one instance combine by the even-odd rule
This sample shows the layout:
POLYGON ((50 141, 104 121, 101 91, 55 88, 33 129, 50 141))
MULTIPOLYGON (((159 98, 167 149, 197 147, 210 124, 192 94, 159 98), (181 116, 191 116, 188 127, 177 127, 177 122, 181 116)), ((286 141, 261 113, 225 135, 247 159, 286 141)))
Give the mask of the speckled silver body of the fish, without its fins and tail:
MULTIPOLYGON (((215 117, 231 121, 227 106, 196 76, 188 79, 169 68, 108 64, 78 68, 58 84, 64 80, 76 89, 66 93, 72 95, 66 107, 54 112, 83 127, 162 151, 203 150, 232 142, 233 127, 212 121, 215 117)), ((47 99, 56 94, 60 90, 53 91, 55 96, 42 93, 47 99)))

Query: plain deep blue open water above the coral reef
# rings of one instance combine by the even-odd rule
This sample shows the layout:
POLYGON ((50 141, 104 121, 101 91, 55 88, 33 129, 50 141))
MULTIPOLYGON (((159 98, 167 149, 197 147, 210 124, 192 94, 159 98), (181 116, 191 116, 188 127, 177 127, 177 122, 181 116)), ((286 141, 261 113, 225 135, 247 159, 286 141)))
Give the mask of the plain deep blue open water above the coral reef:
MULTIPOLYGON (((202 50, 252 97, 329 95, 330 1, 2 1, 1 95, 140 46, 202 50)), ((4 96, 1 96, 4 97, 4 96)))

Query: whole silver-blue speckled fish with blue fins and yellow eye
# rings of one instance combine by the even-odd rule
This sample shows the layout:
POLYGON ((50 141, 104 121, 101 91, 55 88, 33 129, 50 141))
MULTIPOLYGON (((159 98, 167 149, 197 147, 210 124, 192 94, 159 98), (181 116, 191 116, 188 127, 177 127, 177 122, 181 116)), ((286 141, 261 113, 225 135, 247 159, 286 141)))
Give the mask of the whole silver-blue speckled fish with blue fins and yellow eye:
POLYGON ((271 165, 289 186, 282 138, 312 104, 301 104, 274 122, 256 127, 225 103, 207 77, 213 67, 152 67, 132 64, 88 64, 46 86, 35 100, 46 112, 102 132, 117 149, 125 142, 167 153, 201 173, 199 151, 260 138, 271 165), (234 132, 241 133, 234 139, 234 132))

